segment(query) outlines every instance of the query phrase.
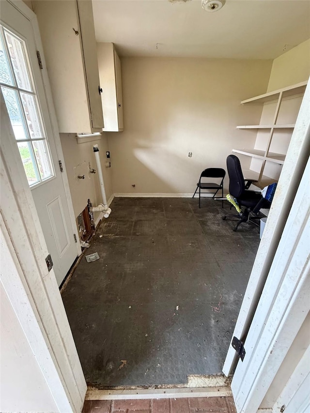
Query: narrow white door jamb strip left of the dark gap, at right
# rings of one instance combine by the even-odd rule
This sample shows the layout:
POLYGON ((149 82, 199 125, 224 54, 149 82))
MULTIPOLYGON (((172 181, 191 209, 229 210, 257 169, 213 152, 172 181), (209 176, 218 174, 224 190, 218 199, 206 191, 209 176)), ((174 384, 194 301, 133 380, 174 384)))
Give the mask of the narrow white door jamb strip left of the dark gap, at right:
MULTIPOLYGON (((279 178, 268 220, 254 261, 248 286, 238 315, 233 337, 245 341, 257 304, 261 297, 272 261, 281 239, 282 231, 290 213, 297 187, 300 183, 310 154, 310 82, 296 120, 292 139, 279 178)), ((230 345, 223 372, 233 372, 237 356, 230 345)))

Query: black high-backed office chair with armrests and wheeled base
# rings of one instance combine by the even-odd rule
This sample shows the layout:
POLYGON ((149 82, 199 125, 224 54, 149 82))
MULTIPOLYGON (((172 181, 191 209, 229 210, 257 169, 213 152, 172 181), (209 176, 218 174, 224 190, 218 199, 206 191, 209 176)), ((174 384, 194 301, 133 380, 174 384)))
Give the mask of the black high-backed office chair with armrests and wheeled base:
POLYGON ((264 199, 261 194, 248 191, 249 186, 257 181, 254 179, 244 179, 237 156, 229 155, 227 157, 227 171, 229 175, 229 193, 237 200, 242 212, 239 215, 227 214, 223 216, 223 219, 226 220, 228 217, 239 219, 233 229, 234 231, 238 229, 242 222, 248 222, 259 227, 259 224, 254 220, 261 218, 259 215, 261 208, 270 208, 270 202, 264 199))

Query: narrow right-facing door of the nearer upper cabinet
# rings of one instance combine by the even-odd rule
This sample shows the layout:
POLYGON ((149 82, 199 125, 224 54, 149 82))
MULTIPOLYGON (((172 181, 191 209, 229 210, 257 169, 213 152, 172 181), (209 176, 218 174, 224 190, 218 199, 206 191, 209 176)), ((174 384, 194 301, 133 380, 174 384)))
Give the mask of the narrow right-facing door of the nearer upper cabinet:
POLYGON ((91 122, 94 129, 102 129, 104 124, 101 93, 99 93, 99 70, 93 24, 93 6, 91 0, 77 0, 77 2, 91 122))

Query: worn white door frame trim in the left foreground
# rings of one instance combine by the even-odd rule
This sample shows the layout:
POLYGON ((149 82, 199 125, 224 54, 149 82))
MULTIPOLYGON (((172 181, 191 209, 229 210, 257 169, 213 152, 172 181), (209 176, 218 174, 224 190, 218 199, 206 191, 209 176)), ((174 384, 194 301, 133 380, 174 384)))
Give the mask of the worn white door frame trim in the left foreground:
POLYGON ((6 244, 9 247, 11 243, 14 250, 10 253, 19 269, 15 272, 19 279, 14 281, 13 273, 5 271, 1 274, 2 283, 20 315, 34 355, 42 355, 40 366, 60 412, 79 412, 86 382, 54 272, 47 271, 47 246, 23 166, 17 162, 19 153, 2 93, 0 97, 1 216, 6 244), (21 312, 25 306, 28 321, 21 312), (38 328, 34 328, 36 325, 38 328), (49 356, 45 359, 46 351, 49 356))

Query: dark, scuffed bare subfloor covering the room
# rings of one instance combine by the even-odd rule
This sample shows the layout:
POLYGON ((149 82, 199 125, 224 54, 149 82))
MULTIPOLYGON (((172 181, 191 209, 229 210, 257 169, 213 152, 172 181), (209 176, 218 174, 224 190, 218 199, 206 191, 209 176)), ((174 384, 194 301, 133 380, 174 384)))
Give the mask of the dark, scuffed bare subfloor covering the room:
POLYGON ((86 381, 97 388, 221 374, 259 245, 229 206, 116 198, 62 292, 86 381))

